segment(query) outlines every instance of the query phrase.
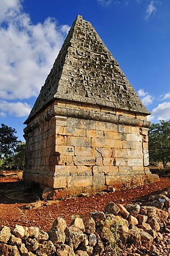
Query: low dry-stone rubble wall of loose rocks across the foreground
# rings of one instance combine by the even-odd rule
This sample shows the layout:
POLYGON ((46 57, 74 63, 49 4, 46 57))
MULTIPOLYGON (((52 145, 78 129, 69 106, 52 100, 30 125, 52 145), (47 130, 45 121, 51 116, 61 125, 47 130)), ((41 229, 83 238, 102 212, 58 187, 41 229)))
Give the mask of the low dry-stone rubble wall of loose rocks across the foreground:
POLYGON ((58 217, 47 233, 38 227, 4 226, 0 255, 170 255, 169 198, 170 189, 150 196, 149 206, 110 202, 104 212, 91 212, 84 221, 75 218, 70 226, 58 217))

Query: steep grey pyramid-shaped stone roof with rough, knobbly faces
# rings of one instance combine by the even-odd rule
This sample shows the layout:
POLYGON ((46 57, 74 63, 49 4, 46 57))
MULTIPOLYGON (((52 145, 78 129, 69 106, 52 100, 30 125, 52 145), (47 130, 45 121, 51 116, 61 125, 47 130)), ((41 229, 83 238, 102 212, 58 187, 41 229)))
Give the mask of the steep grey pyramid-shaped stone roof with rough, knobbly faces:
POLYGON ((27 121, 55 99, 150 114, 94 27, 81 15, 74 20, 27 121))

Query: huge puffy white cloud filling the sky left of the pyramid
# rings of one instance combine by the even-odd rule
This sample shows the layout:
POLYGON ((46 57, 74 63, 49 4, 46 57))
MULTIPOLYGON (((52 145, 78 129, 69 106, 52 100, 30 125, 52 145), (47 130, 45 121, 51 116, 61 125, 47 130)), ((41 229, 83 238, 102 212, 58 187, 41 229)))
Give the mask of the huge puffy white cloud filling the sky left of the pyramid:
POLYGON ((39 94, 69 26, 47 18, 32 25, 21 0, 0 1, 1 99, 29 99, 39 94))

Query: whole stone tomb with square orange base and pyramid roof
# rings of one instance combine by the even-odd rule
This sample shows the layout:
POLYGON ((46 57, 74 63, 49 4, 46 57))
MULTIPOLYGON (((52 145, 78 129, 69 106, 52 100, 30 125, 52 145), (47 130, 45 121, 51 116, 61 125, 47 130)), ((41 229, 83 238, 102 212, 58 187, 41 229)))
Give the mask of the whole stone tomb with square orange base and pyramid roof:
POLYGON ((25 121, 24 181, 58 196, 154 180, 147 167, 149 114, 78 15, 25 121))

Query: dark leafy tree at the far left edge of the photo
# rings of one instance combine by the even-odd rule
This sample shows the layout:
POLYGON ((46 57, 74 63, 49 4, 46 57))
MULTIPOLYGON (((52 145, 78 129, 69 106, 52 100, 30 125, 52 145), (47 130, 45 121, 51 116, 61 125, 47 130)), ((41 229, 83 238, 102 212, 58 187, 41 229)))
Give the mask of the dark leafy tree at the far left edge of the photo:
POLYGON ((20 140, 15 136, 16 130, 5 124, 0 126, 0 159, 10 158, 20 140))

